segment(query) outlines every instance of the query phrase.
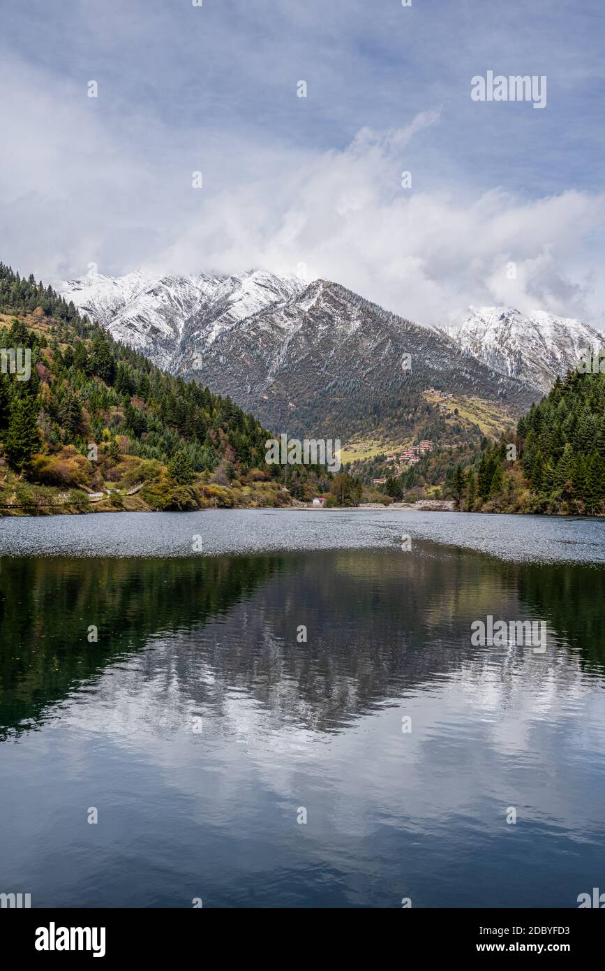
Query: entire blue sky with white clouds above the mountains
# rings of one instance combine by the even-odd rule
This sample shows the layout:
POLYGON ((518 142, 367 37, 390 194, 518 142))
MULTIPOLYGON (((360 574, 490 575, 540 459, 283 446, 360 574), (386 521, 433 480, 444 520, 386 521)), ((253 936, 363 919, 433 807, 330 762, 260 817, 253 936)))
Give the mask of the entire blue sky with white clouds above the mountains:
POLYGON ((0 0, 3 262, 603 326, 602 0, 199 2, 0 0), (545 77, 545 107, 473 100, 489 71, 545 77))

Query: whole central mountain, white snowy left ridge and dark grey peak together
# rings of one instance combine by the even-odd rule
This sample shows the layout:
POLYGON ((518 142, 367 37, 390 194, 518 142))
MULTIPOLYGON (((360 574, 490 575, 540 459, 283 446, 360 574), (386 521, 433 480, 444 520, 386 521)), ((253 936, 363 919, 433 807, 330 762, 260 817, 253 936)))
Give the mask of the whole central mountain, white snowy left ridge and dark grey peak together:
POLYGON ((479 399, 513 418, 540 397, 445 332, 328 281, 138 273, 87 277, 62 293, 117 340, 229 394, 278 433, 346 440, 397 423, 404 434, 439 397, 479 399))

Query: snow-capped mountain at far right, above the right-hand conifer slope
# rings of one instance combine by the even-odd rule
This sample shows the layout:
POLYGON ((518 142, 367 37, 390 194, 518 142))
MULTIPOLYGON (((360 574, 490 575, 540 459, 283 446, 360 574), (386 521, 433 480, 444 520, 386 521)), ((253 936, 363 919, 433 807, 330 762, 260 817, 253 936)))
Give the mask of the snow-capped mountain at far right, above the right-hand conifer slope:
POLYGON ((557 375, 575 368, 588 348, 605 344, 602 333, 574 318, 545 311, 522 314, 502 307, 473 310, 449 335, 499 374, 518 378, 545 394, 557 375))

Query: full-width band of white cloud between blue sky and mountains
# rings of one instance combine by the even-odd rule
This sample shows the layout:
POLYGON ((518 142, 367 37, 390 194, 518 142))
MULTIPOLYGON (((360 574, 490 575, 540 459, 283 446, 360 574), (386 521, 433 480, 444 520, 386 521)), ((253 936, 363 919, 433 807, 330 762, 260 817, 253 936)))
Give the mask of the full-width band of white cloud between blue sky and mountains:
POLYGON ((85 84, 4 64, 12 96, 1 109, 11 132, 0 162, 2 258, 23 273, 58 281, 93 260, 113 275, 150 263, 297 272, 303 261, 308 276, 426 323, 452 322, 470 304, 600 322, 605 196, 568 189, 528 199, 479 192, 470 179, 425 184, 423 139, 438 112, 362 128, 340 151, 301 149, 115 117, 103 85, 90 99, 85 84), (202 189, 191 185, 198 169, 202 189), (407 169, 412 186, 402 188, 407 169))

